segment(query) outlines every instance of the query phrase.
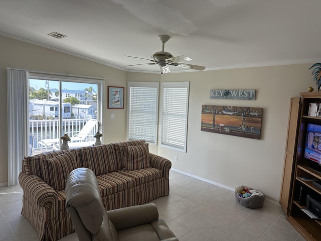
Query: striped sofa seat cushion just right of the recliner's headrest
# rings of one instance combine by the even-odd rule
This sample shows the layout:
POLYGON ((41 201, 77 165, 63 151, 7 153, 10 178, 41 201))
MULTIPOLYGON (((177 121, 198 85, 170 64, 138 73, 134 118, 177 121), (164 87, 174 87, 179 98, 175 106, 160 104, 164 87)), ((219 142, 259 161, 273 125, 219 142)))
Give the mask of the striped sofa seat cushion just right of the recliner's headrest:
POLYGON ((118 172, 106 173, 96 178, 102 197, 136 186, 133 178, 118 172))

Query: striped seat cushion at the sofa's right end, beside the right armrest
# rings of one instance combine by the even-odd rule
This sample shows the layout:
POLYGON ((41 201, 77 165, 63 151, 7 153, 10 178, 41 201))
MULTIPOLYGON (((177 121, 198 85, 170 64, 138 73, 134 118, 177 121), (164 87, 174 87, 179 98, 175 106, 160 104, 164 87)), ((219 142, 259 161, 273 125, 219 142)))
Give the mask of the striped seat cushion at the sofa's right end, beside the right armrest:
POLYGON ((117 172, 135 179, 137 186, 146 182, 150 182, 152 180, 156 180, 158 178, 162 178, 163 176, 162 170, 152 167, 134 171, 118 170, 117 172))

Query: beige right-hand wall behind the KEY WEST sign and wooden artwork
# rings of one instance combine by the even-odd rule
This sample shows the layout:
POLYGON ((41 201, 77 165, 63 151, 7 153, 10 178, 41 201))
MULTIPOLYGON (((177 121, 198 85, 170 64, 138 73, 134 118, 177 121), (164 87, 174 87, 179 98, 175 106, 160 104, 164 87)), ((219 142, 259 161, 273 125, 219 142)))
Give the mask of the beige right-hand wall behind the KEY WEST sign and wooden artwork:
POLYGON ((190 81, 187 153, 159 147, 172 167, 213 182, 247 185, 278 201, 290 98, 307 91, 310 64, 169 74, 162 81, 190 81), (256 100, 210 99, 210 89, 255 89, 256 100), (261 140, 202 132, 202 104, 262 107, 261 140), (178 162, 174 161, 178 156, 178 162))

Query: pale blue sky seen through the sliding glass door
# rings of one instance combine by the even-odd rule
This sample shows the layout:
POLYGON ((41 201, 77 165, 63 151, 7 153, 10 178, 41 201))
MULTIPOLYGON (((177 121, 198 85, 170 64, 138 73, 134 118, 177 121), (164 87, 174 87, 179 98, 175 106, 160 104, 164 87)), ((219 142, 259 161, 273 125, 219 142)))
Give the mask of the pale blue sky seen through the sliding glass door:
MULTIPOLYGON (((39 90, 40 88, 47 89, 46 80, 40 80, 40 79, 29 79, 29 86, 34 87, 36 90, 39 90)), ((58 89, 59 88, 59 81, 55 80, 49 80, 49 89, 58 89)), ((97 85, 96 84, 86 84, 86 83, 75 83, 75 82, 62 82, 61 87, 62 89, 70 89, 70 90, 84 90, 89 87, 93 87, 93 90, 97 91, 97 85)))

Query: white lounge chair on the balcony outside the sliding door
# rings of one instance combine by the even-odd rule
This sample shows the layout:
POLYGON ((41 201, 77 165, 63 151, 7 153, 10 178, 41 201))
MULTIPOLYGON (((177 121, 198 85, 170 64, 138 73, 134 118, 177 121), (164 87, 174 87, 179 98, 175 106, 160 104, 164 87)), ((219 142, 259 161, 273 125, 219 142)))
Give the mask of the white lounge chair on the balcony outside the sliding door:
MULTIPOLYGON (((90 136, 90 133, 92 131, 92 129, 96 126, 97 124, 97 121, 93 120, 93 119, 90 119, 85 126, 83 126, 83 128, 80 130, 79 133, 71 136, 70 133, 71 132, 66 132, 65 134, 67 134, 68 136, 71 136, 70 139, 70 143, 73 143, 73 142, 87 142, 89 141, 89 136, 90 136)), ((53 138, 53 139, 43 139, 41 141, 38 142, 39 145, 43 146, 46 148, 46 151, 48 151, 48 148, 49 147, 54 147, 58 144, 59 146, 59 143, 60 143, 60 138, 53 138)), ((69 144, 69 143, 68 143, 69 144)))

